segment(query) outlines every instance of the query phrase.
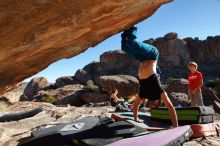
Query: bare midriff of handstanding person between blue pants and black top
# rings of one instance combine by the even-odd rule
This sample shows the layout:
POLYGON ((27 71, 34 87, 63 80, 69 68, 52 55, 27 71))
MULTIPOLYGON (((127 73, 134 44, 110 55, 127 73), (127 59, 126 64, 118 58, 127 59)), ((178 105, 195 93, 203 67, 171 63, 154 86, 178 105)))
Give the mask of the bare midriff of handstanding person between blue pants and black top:
POLYGON ((141 62, 138 70, 139 79, 146 79, 152 74, 156 74, 156 60, 146 60, 141 62))

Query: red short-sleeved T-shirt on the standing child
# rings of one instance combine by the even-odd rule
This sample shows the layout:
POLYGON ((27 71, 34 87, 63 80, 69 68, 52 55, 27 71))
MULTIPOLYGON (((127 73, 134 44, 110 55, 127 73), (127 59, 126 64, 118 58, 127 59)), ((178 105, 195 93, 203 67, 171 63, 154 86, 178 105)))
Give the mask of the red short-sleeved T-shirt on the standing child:
POLYGON ((189 81, 189 88, 191 90, 195 90, 197 87, 200 86, 202 81, 202 73, 199 71, 196 71, 194 73, 190 73, 188 75, 188 81, 189 81))

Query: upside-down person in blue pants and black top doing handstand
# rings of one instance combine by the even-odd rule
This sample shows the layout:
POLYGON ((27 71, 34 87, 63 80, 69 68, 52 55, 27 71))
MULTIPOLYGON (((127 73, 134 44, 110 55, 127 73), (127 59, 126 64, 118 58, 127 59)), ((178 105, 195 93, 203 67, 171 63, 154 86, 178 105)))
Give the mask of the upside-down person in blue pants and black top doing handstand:
POLYGON ((160 80, 156 74, 159 52, 156 47, 138 42, 136 38, 137 27, 131 27, 122 33, 121 41, 122 50, 141 62, 138 71, 140 91, 134 103, 134 120, 142 122, 138 119, 138 110, 142 99, 148 99, 152 104, 157 104, 158 102, 155 101, 161 100, 168 108, 173 127, 178 127, 176 110, 167 93, 161 87, 160 80))

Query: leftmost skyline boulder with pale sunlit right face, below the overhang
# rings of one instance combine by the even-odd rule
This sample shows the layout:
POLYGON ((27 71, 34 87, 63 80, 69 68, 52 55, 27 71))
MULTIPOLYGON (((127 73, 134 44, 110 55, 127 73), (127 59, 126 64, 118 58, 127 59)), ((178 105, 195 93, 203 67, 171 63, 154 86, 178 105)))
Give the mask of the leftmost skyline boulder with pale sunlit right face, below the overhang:
POLYGON ((34 78, 27 84, 23 94, 27 97, 27 100, 31 101, 38 91, 45 89, 49 85, 49 82, 44 77, 34 78))

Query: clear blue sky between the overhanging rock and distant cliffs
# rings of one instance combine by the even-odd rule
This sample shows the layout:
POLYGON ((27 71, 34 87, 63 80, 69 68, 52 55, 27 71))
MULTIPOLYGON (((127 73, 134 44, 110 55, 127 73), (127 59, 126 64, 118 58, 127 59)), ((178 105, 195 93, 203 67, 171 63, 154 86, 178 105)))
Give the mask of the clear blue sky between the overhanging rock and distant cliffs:
MULTIPOLYGON (((147 20, 137 24, 139 40, 164 36, 168 32, 177 32, 179 38, 220 35, 220 0, 174 0, 163 5, 147 20)), ((71 59, 63 59, 51 64, 45 70, 26 79, 46 77, 49 82, 61 76, 73 76, 77 69, 111 50, 120 49, 120 34, 114 35, 94 48, 71 59)))

